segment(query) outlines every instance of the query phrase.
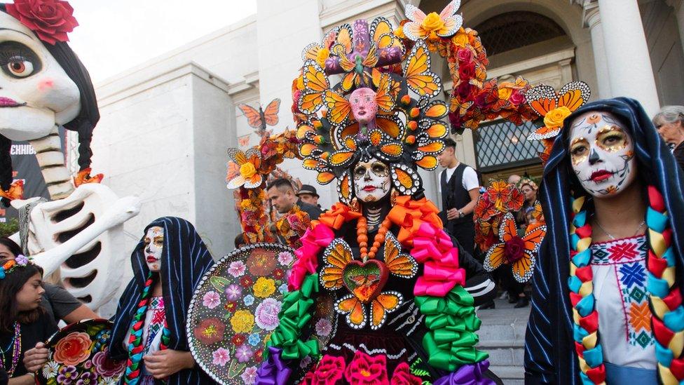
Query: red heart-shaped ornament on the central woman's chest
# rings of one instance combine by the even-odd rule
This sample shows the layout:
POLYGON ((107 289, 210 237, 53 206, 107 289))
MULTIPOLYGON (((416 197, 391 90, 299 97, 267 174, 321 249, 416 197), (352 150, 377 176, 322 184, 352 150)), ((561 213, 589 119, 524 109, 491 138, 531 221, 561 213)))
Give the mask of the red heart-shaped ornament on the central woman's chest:
POLYGON ((342 281, 349 292, 367 304, 380 295, 389 274, 387 266, 377 259, 350 261, 342 270, 342 281))

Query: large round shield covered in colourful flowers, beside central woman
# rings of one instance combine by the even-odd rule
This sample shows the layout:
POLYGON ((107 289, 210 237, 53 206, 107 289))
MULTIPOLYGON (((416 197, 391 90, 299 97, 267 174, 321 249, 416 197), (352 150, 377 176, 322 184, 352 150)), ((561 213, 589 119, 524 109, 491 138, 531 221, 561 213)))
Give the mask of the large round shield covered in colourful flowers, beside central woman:
MULTIPOLYGON (((200 281, 190 302, 188 341, 197 363, 220 384, 254 384, 266 342, 278 327, 294 259, 285 245, 247 245, 223 257, 200 281)), ((322 343, 334 330, 329 303, 329 309, 317 309, 312 324, 322 331, 322 343)))

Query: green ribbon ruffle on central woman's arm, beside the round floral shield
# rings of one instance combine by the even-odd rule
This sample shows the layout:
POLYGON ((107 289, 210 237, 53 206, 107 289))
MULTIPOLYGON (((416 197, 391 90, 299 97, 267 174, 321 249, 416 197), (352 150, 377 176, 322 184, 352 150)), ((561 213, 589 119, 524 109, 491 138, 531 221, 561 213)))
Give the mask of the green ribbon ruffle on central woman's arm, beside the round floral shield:
MULTIPOLYGON (((318 275, 309 274, 304 278, 301 288, 288 292, 282 299, 282 308, 278 313, 280 325, 273 330, 266 346, 282 349, 282 359, 301 360, 306 356, 318 358, 320 349, 316 339, 302 341, 300 339, 304 327, 311 320, 314 305, 313 297, 319 290, 318 275)), ((264 349, 264 355, 268 349, 264 349)))

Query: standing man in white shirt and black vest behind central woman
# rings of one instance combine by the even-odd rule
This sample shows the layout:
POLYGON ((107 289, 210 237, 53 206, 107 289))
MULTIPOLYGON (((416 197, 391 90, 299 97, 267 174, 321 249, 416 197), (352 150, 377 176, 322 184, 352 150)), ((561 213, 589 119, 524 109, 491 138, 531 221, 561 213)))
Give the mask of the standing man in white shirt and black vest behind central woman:
POLYGON ((439 165, 446 168, 439 174, 439 191, 442 194, 442 212, 439 212, 439 217, 444 222, 444 229, 470 255, 475 255, 472 212, 479 197, 477 173, 472 167, 458 161, 456 142, 447 138, 444 144, 444 151, 437 156, 439 165))

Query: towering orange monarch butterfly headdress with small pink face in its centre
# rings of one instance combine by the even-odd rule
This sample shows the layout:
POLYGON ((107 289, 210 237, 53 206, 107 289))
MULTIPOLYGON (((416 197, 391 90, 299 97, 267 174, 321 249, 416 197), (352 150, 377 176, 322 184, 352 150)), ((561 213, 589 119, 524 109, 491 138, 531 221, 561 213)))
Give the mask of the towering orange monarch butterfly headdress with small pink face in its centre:
POLYGON ((430 70, 425 42, 406 53, 390 22, 376 18, 370 26, 357 20, 328 32, 315 45, 315 59, 311 47, 293 85, 304 168, 317 171, 320 184, 337 179, 340 199, 349 203, 351 166, 374 157, 390 165, 399 193, 416 194, 422 185, 416 168, 437 167, 447 135, 440 121, 447 107, 432 100, 441 93, 442 81, 430 70), (329 76, 336 74, 342 80, 333 85, 329 76), (374 116, 355 113, 355 103, 364 97, 374 116))

